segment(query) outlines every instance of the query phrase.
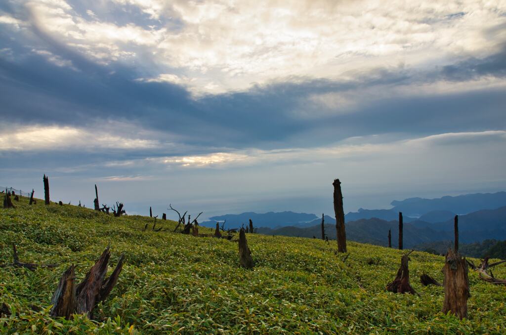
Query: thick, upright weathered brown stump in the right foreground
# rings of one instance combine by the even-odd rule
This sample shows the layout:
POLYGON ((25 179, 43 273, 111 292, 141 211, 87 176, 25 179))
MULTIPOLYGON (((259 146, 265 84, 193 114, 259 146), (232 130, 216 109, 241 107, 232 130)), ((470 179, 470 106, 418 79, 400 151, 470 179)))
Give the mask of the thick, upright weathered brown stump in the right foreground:
POLYGON ((452 313, 460 319, 468 317, 469 292, 468 264, 465 257, 448 249, 444 273, 443 313, 452 313))

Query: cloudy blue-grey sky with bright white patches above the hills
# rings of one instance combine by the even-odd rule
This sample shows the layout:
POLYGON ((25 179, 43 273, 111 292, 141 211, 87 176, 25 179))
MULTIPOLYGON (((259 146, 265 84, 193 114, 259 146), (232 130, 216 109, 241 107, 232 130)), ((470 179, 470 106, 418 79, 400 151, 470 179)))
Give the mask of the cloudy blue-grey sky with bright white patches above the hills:
POLYGON ((0 186, 319 215, 505 167, 506 1, 0 2, 0 186))

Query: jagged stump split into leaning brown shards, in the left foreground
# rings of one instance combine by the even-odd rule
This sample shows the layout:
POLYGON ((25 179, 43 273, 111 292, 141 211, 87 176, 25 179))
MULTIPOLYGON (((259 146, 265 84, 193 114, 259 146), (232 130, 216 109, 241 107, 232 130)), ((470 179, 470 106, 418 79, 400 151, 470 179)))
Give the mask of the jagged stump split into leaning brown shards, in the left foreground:
POLYGON ((112 288, 116 285, 119 273, 123 268, 124 254, 121 254, 112 274, 105 278, 110 259, 107 247, 95 265, 88 271, 80 284, 75 285, 74 265, 70 266, 62 275, 51 303, 51 316, 62 316, 69 319, 73 313, 86 313, 91 316, 95 306, 104 301, 112 288))

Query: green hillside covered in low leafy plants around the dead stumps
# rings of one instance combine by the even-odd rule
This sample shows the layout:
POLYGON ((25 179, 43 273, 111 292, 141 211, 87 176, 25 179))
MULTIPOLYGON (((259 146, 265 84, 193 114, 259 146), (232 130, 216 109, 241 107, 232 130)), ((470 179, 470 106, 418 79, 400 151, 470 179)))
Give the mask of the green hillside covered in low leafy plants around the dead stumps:
MULTIPOLYGON (((335 242, 247 234, 256 267, 243 270, 236 242, 143 232, 152 219, 43 203, 29 206, 23 197, 17 208, 0 209, 0 263, 12 262, 16 243, 22 262, 60 264, 34 272, 0 268, 0 307, 6 303, 12 312, 2 315, 0 333, 506 332, 506 287, 482 282, 473 272, 470 319, 440 313, 443 288, 422 286, 418 277, 428 273, 442 281, 443 257, 411 254, 411 284, 420 297, 398 295, 385 286, 399 266, 399 250, 349 242, 343 262, 335 242), (109 243, 112 264, 121 252, 126 263, 94 320, 50 318, 62 272, 76 264, 79 281, 109 243)), ((494 274, 506 277, 506 266, 494 274)))

